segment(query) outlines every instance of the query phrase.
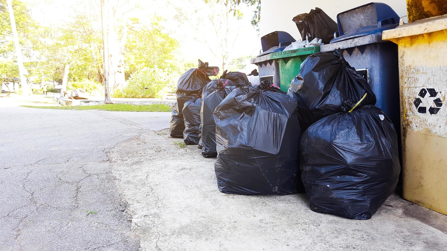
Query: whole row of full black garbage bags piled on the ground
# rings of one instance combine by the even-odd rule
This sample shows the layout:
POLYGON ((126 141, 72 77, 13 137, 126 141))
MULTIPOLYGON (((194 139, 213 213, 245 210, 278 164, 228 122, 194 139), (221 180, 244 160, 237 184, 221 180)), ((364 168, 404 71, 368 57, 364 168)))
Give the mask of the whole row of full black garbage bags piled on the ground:
POLYGON ((191 69, 179 80, 171 136, 183 133, 204 157, 217 157, 220 192, 305 191, 311 210, 350 219, 371 218, 393 193, 396 130, 338 50, 309 56, 288 93, 239 72, 208 81, 218 73, 208 68, 200 62, 201 75, 191 69))

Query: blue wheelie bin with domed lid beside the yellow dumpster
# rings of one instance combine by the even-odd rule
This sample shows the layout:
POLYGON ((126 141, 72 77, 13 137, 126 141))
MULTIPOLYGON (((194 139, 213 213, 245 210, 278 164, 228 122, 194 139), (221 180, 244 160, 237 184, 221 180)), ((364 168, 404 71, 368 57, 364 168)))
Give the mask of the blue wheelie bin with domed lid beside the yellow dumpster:
POLYGON ((397 45, 382 40, 382 31, 396 28, 399 16, 387 4, 370 3, 339 13, 337 24, 335 38, 321 45, 320 51, 342 49, 350 66, 367 79, 376 106, 388 115, 400 136, 397 45))

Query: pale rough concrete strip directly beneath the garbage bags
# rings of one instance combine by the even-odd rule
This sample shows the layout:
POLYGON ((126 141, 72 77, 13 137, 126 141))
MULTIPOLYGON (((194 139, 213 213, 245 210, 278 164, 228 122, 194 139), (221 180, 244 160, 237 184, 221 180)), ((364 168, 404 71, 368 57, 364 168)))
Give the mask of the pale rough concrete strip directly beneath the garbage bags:
POLYGON ((370 220, 309 209, 302 194, 220 193, 214 160, 148 132, 108 153, 141 250, 445 251, 447 216, 393 194, 370 220))

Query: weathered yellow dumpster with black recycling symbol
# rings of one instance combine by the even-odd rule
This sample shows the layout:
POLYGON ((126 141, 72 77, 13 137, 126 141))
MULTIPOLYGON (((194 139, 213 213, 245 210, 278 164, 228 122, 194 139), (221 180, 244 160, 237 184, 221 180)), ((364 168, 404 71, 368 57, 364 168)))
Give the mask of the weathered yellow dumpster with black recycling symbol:
POLYGON ((447 214, 447 15, 383 32, 398 45, 402 192, 447 214))

